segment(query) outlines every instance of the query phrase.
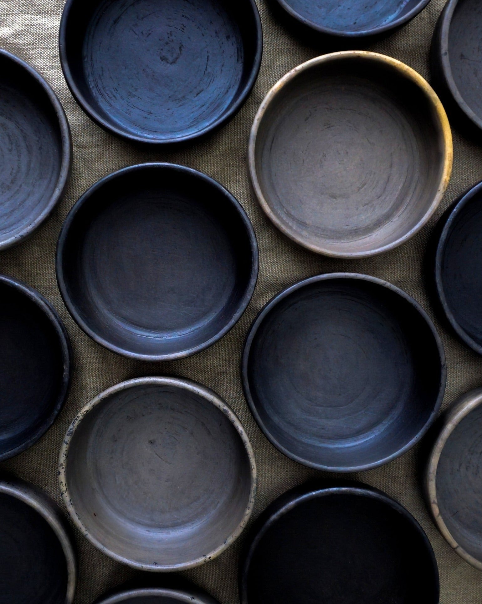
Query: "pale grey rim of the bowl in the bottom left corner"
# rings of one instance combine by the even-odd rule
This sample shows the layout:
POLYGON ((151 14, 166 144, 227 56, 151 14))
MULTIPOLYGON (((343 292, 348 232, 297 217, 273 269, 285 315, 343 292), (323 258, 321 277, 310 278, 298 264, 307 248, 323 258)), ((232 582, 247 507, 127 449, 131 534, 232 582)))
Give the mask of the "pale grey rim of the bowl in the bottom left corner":
POLYGON ((19 478, 2 478, 0 480, 0 493, 14 497, 27 504, 27 506, 31 507, 44 518, 55 533, 64 551, 67 568, 65 604, 72 604, 77 585, 77 556, 71 539, 70 527, 62 515, 60 508, 41 489, 19 478))

